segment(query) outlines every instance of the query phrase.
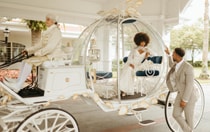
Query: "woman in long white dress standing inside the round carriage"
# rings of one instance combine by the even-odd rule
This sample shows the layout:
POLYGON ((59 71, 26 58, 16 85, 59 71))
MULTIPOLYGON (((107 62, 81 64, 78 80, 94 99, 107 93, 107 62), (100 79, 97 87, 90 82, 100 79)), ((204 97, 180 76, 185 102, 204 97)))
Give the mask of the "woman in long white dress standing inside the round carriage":
POLYGON ((138 70, 141 62, 150 55, 150 52, 146 48, 149 41, 150 38, 146 33, 139 32, 135 35, 134 42, 137 47, 130 52, 119 78, 121 96, 134 95, 135 72, 138 70))

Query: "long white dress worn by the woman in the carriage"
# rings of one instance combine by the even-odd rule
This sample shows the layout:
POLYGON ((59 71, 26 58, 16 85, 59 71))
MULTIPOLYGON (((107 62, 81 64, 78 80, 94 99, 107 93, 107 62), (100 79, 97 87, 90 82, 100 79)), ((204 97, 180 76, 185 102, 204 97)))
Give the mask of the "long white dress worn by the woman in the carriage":
POLYGON ((146 52, 139 53, 138 50, 142 48, 144 51, 147 49, 145 47, 134 48, 129 56, 127 62, 124 64, 123 69, 121 70, 119 78, 119 88, 121 91, 127 95, 134 95, 134 77, 135 73, 138 70, 138 67, 141 65, 141 62, 145 58, 146 52), (129 66, 130 64, 134 65, 134 69, 129 66))

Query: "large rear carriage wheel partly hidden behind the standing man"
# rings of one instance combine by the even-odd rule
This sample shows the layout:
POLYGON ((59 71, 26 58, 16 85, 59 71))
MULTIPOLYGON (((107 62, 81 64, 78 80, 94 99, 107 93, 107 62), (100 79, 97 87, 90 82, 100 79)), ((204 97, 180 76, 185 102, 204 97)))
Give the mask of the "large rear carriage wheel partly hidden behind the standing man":
MULTIPOLYGON (((197 80, 194 81, 194 86, 199 95, 199 99, 196 102, 195 112, 194 112, 195 113, 194 114, 194 128, 196 128, 203 116, 205 100, 204 100, 204 93, 203 93, 202 87, 197 80)), ((173 93, 168 92, 168 95, 166 97, 166 104, 165 104, 165 119, 171 131, 182 132, 181 127, 178 125, 176 120, 172 117, 173 103, 175 101, 176 95, 177 95, 177 92, 173 92, 173 93)))

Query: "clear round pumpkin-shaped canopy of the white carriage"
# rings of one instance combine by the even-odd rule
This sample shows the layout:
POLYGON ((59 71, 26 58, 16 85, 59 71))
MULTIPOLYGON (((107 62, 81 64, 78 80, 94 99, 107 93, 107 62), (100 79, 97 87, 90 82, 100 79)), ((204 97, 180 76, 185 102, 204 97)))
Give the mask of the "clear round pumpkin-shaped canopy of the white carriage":
MULTIPOLYGON (((157 93, 164 83, 167 73, 167 57, 164 49, 165 45, 158 32, 140 18, 122 18, 120 16, 103 17, 89 25, 79 39, 74 43, 75 52, 72 58, 72 65, 85 65, 86 72, 95 71, 96 81, 87 74, 87 86, 95 89, 102 84, 117 91, 121 69, 124 65, 123 58, 129 55, 131 49, 136 45, 133 38, 136 33, 145 32, 150 37, 148 48, 152 56, 162 56, 160 64, 151 64, 144 67, 144 70, 158 70, 158 76, 136 76, 143 78, 143 91, 147 95, 157 93), (104 83, 104 79, 106 79, 104 83), (102 81, 103 80, 103 81, 102 81)), ((139 82, 135 84, 139 90, 139 82)), ((107 89, 107 88, 106 88, 107 89)), ((142 89, 141 89, 142 91, 142 89)))

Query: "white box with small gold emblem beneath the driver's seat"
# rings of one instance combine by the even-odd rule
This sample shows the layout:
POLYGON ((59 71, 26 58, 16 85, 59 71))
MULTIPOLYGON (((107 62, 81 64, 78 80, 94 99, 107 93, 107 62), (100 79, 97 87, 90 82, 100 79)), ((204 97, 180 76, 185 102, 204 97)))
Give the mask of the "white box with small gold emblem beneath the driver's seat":
POLYGON ((68 99, 76 93, 87 91, 82 65, 40 67, 38 80, 38 87, 44 90, 45 97, 68 99))

